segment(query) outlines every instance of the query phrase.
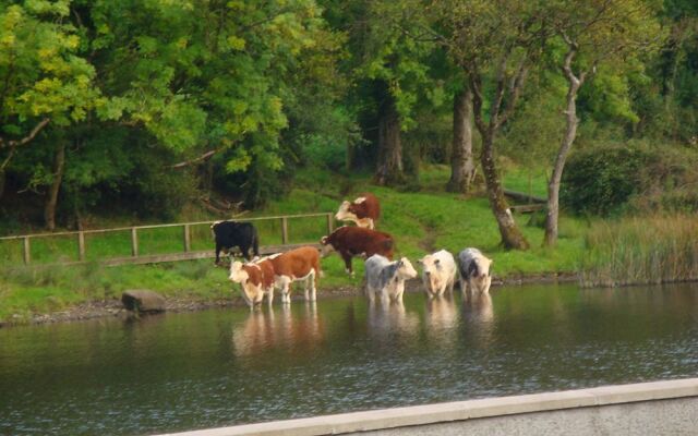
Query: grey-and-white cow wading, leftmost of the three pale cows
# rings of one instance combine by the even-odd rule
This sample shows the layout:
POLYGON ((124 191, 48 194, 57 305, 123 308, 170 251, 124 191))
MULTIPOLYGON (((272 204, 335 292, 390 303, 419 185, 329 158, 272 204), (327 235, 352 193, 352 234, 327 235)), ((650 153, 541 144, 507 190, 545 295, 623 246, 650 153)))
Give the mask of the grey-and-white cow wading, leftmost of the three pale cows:
POLYGON ((417 271, 407 257, 390 262, 380 254, 374 254, 365 262, 364 277, 371 301, 378 294, 384 302, 389 300, 401 302, 405 280, 417 277, 417 271))

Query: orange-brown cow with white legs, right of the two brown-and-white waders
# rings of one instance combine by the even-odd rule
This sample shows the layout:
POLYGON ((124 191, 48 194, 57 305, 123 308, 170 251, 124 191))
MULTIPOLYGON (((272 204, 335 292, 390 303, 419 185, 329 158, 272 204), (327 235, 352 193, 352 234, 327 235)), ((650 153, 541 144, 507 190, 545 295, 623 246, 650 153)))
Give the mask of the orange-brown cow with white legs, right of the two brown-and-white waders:
POLYGON ((281 289, 281 302, 291 302, 291 282, 305 280, 305 301, 315 301, 317 278, 321 274, 320 252, 313 246, 301 246, 267 257, 274 266, 276 284, 281 289), (310 295, 309 295, 310 287, 310 295))

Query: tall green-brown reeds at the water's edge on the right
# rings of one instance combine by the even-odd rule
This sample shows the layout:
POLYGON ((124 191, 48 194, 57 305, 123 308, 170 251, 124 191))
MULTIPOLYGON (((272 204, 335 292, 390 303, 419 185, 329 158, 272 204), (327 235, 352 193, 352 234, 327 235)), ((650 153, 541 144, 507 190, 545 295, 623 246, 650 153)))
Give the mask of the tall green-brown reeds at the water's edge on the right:
POLYGON ((698 280, 698 216, 600 221, 585 239, 582 286, 698 280))

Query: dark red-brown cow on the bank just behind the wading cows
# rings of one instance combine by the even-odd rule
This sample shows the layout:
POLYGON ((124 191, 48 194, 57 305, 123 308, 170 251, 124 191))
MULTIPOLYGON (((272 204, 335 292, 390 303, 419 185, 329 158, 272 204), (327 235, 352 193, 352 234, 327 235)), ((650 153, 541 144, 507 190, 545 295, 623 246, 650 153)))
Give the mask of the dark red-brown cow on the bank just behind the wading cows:
POLYGON ((345 261, 347 272, 351 275, 353 275, 351 258, 354 256, 371 257, 380 254, 393 261, 395 245, 393 237, 377 230, 344 226, 332 234, 323 237, 320 242, 323 244, 323 256, 333 251, 339 253, 345 261))

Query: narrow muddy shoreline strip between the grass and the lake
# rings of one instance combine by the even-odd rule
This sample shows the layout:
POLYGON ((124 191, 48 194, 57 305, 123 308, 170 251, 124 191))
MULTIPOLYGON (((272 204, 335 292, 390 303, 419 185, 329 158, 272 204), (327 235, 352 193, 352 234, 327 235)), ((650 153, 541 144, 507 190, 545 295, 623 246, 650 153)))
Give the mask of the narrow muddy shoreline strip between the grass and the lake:
MULTIPOLYGON (((577 276, 571 272, 529 275, 508 277, 506 279, 495 278, 492 281, 492 288, 496 289, 502 286, 545 284, 557 282, 569 283, 574 281, 577 281, 577 276)), ((407 283, 406 292, 421 292, 421 281, 410 280, 407 283)), ((455 292, 458 291, 456 290, 455 292)), ((329 288, 318 291, 317 299, 322 300, 336 296, 358 295, 361 293, 362 288, 360 286, 329 288)), ((296 299, 302 300, 302 292, 294 292, 293 300, 296 299)), ((168 298, 166 302, 166 312, 169 313, 194 312, 221 307, 246 307, 246 304, 239 293, 233 293, 230 298, 219 300, 168 298)), ((109 299, 77 304, 62 311, 56 311, 45 314, 34 314, 31 318, 26 318, 20 315, 13 315, 10 319, 0 322, 0 328, 38 324, 70 323, 108 317, 127 318, 129 316, 133 316, 133 314, 123 308, 121 300, 109 299)))

